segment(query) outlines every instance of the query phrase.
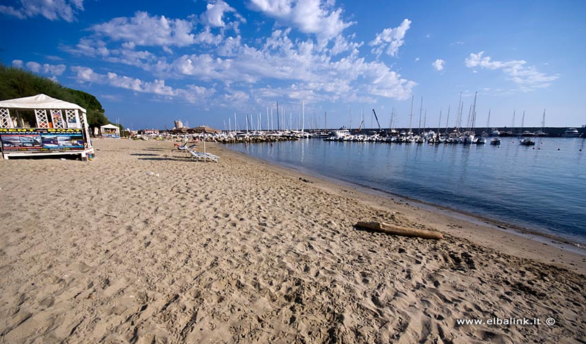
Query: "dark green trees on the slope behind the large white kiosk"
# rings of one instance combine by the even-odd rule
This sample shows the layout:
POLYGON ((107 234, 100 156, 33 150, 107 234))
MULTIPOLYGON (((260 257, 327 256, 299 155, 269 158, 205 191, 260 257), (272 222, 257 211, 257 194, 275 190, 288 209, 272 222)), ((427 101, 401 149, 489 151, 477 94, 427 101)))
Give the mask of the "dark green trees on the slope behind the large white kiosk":
MULTIPOLYGON (((0 64, 0 100, 36 96, 41 93, 85 108, 88 111, 90 128, 107 125, 110 122, 104 115, 99 100, 92 94, 63 87, 50 78, 0 64)), ((27 118, 28 122, 34 123, 34 114, 29 117, 31 118, 27 118)))

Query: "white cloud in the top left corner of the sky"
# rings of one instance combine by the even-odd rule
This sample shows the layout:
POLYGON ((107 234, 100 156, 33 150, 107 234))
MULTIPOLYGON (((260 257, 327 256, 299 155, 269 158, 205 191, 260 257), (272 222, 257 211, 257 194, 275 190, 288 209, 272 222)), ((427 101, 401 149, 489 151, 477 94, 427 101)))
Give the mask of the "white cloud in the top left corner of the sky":
POLYGON ((8 14, 19 19, 37 17, 39 15, 55 21, 75 21, 78 10, 83 11, 83 0, 21 0, 21 6, 0 6, 0 13, 8 14))

